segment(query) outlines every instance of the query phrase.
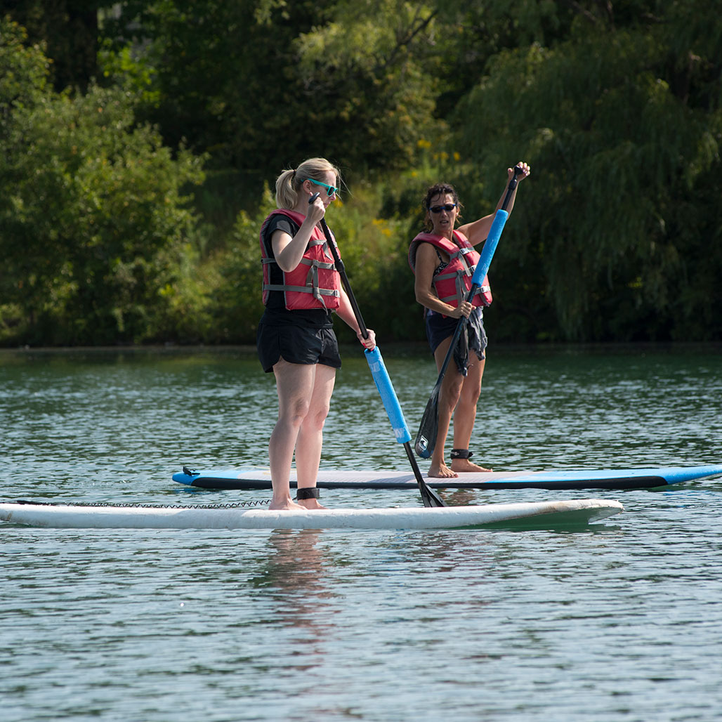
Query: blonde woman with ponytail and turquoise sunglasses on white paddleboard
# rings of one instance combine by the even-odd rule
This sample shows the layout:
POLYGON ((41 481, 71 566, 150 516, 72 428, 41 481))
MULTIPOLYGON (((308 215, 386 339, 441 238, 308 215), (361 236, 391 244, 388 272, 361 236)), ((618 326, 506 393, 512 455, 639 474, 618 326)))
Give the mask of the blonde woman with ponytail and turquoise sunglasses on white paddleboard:
POLYGON ((269 442, 271 509, 323 508, 316 476, 323 423, 341 366, 331 313, 341 316, 366 348, 375 346, 373 331, 368 329, 367 339, 361 335, 318 225, 336 199, 340 177, 324 158, 284 170, 276 181, 278 209, 261 227, 266 310, 258 323, 258 357, 264 370, 276 377, 279 402, 269 442), (309 204, 316 193, 318 198, 309 204), (294 454, 297 504, 289 488, 294 454))

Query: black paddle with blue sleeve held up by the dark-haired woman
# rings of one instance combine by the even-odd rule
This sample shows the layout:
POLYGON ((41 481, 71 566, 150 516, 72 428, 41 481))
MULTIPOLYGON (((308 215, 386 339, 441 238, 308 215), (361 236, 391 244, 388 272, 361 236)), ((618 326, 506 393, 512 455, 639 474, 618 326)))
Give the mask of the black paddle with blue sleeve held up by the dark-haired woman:
MULTIPOLYGON (((496 212, 494 222, 492 223, 489 235, 487 236, 486 243, 484 243, 484 249, 482 250, 481 256, 479 256, 479 263, 477 264, 477 268, 474 270, 474 275, 471 277, 471 288, 466 294, 465 299, 467 301, 471 300, 471 298, 474 296, 474 293, 484 282, 484 277, 489 271, 489 266, 492 262, 494 251, 496 251, 497 243, 499 243, 499 239, 501 238, 501 233, 504 230, 506 219, 508 219, 509 217, 506 209, 509 205, 511 194, 513 193, 514 188, 516 188, 516 184, 518 183, 516 176, 520 175, 521 173, 521 168, 515 166, 513 178, 509 181, 509 186, 506 189, 506 195, 504 196, 501 208, 496 212)), ((446 368, 448 367, 449 361, 453 356, 453 350, 456 348, 456 344, 458 344, 458 339, 459 336, 461 336, 462 329, 464 329, 465 322, 466 318, 464 316, 461 316, 458 319, 458 323, 456 324, 456 330, 451 337, 451 345, 446 352, 446 357, 444 358, 444 362, 441 365, 441 370, 439 371, 439 378, 436 380, 434 388, 432 388, 431 396, 429 397, 426 408, 424 409, 424 415, 421 417, 419 431, 417 432, 416 441, 414 442, 414 448, 416 449, 416 453, 421 456, 421 458, 429 458, 432 453, 434 453, 434 448, 436 446, 436 435, 438 434, 439 430, 439 393, 441 391, 441 383, 444 380, 444 376, 446 375, 446 368)))

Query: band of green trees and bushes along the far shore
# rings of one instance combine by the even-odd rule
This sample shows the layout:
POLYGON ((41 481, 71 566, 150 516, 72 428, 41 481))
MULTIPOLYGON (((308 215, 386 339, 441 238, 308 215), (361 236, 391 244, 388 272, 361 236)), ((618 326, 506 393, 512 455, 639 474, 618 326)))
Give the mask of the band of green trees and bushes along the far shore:
POLYGON ((92 6, 0 12, 0 348, 253 345, 272 174, 315 155, 343 170, 329 225, 384 348, 425 338, 425 188, 479 217, 521 157, 493 347, 722 342, 701 0, 92 6))

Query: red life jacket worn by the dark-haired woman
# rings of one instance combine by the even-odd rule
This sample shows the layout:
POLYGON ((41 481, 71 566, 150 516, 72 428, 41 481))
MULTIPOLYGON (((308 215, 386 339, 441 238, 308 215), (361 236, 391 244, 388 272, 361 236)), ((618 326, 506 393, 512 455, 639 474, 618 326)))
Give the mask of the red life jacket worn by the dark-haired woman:
MULTIPOLYGON (((479 253, 474 251, 474 246, 463 233, 455 230, 453 232, 456 243, 448 240, 442 235, 431 233, 419 233, 409 246, 409 266, 416 272, 416 253, 419 243, 431 243, 436 248, 448 253, 448 265, 432 279, 436 295, 444 303, 458 308, 458 305, 466 298, 471 289, 471 277, 479 262, 479 253), (458 245, 457 245, 458 244, 458 245)), ((477 288, 474 297, 471 298, 471 305, 488 306, 492 303, 492 289, 489 285, 489 277, 484 276, 484 281, 477 288)))

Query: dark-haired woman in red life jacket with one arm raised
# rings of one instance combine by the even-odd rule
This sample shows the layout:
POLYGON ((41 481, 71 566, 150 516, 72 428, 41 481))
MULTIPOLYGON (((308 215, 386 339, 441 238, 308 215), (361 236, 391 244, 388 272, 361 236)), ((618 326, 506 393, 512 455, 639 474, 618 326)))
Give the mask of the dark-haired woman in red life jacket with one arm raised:
MULTIPOLYGON (((518 181, 531 173, 526 163, 519 162, 517 166, 522 171, 517 176, 518 181)), ((507 175, 510 181, 514 175, 513 168, 507 169, 507 175)), ((517 189, 518 186, 509 201, 508 212, 514 207, 517 189)), ((505 194, 506 188, 497 209, 501 207, 505 194)), ((449 364, 439 394, 439 430, 428 476, 442 479, 457 477, 459 472, 490 471, 474 464, 469 451, 486 359, 487 336, 482 308, 492 301, 488 279, 484 279, 471 302, 464 299, 471 288, 471 276, 479 260, 474 246, 486 240, 494 214, 456 228, 456 222, 461 218, 461 207, 456 190, 448 183, 436 183, 428 188, 424 198, 427 230, 419 233, 409 248, 409 263, 416 274, 416 300, 425 308, 426 334, 438 370, 451 345, 458 318, 464 316, 468 319, 466 354, 456 364, 449 364), (450 468, 446 465, 444 447, 452 416, 450 468)))

